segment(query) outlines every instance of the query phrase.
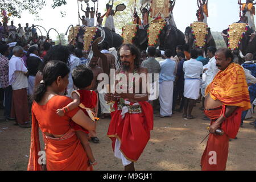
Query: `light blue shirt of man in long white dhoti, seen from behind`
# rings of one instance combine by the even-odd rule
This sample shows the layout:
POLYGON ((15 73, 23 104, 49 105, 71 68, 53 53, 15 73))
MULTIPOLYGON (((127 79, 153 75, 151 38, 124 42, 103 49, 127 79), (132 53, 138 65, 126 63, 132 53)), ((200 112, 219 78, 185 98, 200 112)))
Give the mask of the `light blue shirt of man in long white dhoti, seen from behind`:
POLYGON ((175 71, 176 62, 175 60, 166 59, 160 62, 160 74, 159 83, 163 81, 175 81, 175 71))

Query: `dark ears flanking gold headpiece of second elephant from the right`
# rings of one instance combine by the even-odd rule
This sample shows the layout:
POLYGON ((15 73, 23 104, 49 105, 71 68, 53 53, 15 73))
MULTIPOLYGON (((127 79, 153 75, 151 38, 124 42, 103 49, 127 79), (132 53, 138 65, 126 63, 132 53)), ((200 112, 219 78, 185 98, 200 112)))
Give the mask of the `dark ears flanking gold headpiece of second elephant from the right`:
MULTIPOLYGON (((208 35, 206 36, 206 42, 205 42, 205 46, 202 48, 203 51, 205 52, 205 55, 207 55, 207 48, 210 46, 216 47, 216 43, 213 39, 212 33, 210 32, 210 28, 207 28, 208 30, 208 35)), ((192 28, 191 27, 187 27, 185 29, 185 42, 186 44, 189 45, 189 52, 192 49, 196 49, 196 45, 195 45, 195 40, 193 38, 192 35, 192 28)))

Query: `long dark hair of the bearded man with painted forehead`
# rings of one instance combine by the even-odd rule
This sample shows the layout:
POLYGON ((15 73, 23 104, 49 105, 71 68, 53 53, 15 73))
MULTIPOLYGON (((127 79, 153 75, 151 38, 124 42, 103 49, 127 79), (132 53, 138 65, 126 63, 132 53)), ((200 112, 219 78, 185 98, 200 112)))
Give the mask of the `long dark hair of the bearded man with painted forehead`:
POLYGON ((119 68, 122 68, 122 63, 120 59, 120 49, 124 46, 129 47, 131 51, 131 55, 136 55, 136 58, 134 60, 135 69, 138 69, 139 67, 141 67, 141 52, 139 52, 139 48, 137 48, 133 44, 122 44, 122 46, 120 46, 117 51, 117 56, 118 56, 117 64, 119 65, 119 68))

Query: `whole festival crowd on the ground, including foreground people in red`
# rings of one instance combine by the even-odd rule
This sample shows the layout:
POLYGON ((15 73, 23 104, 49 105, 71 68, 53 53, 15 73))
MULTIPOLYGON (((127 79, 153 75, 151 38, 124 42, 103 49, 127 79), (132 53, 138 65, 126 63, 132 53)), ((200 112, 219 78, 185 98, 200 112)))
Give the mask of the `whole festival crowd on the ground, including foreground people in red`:
MULTIPOLYGON (((86 8, 87 19, 81 18, 84 26, 92 22, 88 19, 92 11, 86 8)), ((112 7, 108 17, 114 15, 110 11, 112 7)), ((109 29, 114 31, 109 21, 109 29)), ((100 142, 96 123, 109 117, 107 135, 114 156, 122 160, 125 170, 133 171, 150 139, 154 114, 164 118, 180 112, 182 118, 195 119, 193 107, 201 101, 203 119, 211 123, 202 170, 225 170, 228 142, 236 139, 243 120, 253 111, 256 65, 252 53, 239 65, 228 48, 189 51, 185 44, 177 46, 172 56, 170 49, 141 51, 133 44, 115 49, 102 42, 92 46, 89 57, 72 43, 55 45, 48 36, 38 37, 34 25, 28 27, 27 23, 23 30, 19 24, 17 31, 14 22, 0 24, 0 38, 0 104, 7 122, 31 128, 28 170, 93 170, 97 161, 89 140, 100 142), (110 69, 127 77, 130 73, 152 74, 150 90, 135 93, 134 88, 121 85, 128 92, 101 92, 98 76, 111 76, 110 69), (46 165, 38 162, 39 129, 46 144, 46 165), (222 135, 216 134, 218 129, 222 135), (214 165, 209 164, 211 151, 218 154, 214 165)), ((256 129, 256 122, 250 125, 256 129)))

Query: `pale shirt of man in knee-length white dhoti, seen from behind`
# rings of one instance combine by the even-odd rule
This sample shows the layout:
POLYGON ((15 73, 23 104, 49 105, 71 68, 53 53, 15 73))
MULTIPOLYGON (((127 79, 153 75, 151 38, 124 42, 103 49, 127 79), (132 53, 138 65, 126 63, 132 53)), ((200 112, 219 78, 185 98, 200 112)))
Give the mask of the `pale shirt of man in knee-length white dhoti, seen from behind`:
POLYGON ((203 63, 197 61, 196 59, 191 59, 184 61, 183 71, 185 73, 184 78, 198 78, 203 73, 203 63))

